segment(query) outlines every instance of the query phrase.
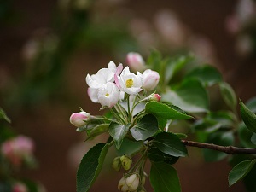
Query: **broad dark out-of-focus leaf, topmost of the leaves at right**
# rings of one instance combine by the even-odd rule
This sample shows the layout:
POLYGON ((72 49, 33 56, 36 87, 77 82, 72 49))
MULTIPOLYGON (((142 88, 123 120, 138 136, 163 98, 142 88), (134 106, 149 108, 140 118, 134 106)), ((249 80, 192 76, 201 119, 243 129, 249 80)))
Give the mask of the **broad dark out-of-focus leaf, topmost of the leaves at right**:
POLYGON ((185 78, 199 79, 201 83, 206 86, 212 86, 213 84, 223 81, 222 75, 218 72, 218 69, 209 65, 195 67, 185 78))

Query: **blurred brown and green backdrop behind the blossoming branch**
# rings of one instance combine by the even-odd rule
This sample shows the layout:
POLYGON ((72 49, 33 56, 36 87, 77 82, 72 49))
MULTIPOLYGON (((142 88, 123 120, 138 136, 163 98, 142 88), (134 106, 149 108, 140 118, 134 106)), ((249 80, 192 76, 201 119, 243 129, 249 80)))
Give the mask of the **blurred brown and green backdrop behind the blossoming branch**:
MULTIPOLYGON (((96 141, 75 131, 69 116, 90 102, 85 76, 125 55, 193 53, 218 67, 237 96, 256 95, 256 10, 252 0, 0 1, 0 106, 12 127, 35 142, 35 170, 20 172, 48 192, 75 191, 79 160, 96 141)), ((189 149, 190 150, 190 149, 189 149)), ((228 187, 227 162, 205 163, 200 150, 177 163, 183 192, 245 191, 228 187)), ((110 152, 111 155, 111 152, 110 152)), ((90 191, 117 191, 121 173, 106 162, 90 191)), ((148 191, 152 191, 147 186, 148 191)))

